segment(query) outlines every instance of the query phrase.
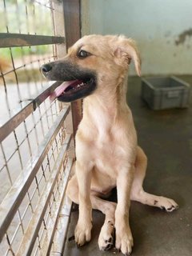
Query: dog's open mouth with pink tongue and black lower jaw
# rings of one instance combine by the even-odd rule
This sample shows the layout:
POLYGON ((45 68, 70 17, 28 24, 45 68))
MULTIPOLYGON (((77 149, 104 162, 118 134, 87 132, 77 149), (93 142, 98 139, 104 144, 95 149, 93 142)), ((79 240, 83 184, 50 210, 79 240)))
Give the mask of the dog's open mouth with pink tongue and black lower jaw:
POLYGON ((79 98, 90 95, 96 87, 94 78, 85 78, 62 82, 60 86, 50 94, 50 100, 58 98, 61 102, 73 102, 79 98))

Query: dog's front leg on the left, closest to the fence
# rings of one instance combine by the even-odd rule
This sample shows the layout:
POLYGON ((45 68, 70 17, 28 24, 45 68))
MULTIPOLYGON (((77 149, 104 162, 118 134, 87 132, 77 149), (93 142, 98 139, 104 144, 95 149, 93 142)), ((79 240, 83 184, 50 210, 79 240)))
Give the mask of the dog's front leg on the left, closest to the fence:
POLYGON ((78 224, 74 231, 75 242, 83 246, 90 241, 92 229, 92 207, 90 202, 90 181, 92 166, 90 163, 76 162, 76 175, 78 178, 79 215, 78 224))

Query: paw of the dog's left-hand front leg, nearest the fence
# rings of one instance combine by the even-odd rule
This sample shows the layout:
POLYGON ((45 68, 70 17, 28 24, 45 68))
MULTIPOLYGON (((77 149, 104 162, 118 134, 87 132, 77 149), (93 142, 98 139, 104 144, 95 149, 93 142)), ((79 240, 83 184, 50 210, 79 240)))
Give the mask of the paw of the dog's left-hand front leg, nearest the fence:
POLYGON ((78 247, 83 246, 86 242, 90 242, 91 229, 92 229, 91 222, 86 222, 86 223, 78 222, 74 230, 74 238, 78 247))

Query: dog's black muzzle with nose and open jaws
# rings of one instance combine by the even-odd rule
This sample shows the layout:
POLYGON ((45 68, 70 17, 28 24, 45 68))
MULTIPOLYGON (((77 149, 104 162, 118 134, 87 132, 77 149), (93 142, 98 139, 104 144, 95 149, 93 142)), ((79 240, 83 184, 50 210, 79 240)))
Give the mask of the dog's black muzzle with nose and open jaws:
POLYGON ((46 63, 41 67, 41 71, 50 81, 71 81, 71 84, 58 96, 58 100, 62 102, 85 98, 97 87, 97 77, 93 70, 82 68, 67 60, 46 63))

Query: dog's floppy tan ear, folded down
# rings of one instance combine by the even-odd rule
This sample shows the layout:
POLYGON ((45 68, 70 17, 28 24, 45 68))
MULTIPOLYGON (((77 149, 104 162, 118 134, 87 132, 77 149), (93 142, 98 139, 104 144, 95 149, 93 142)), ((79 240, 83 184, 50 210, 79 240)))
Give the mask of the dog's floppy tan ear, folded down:
POLYGON ((135 70, 137 71, 138 76, 141 76, 141 58, 134 40, 119 36, 114 55, 123 62, 126 62, 127 65, 130 64, 133 59, 135 70))

